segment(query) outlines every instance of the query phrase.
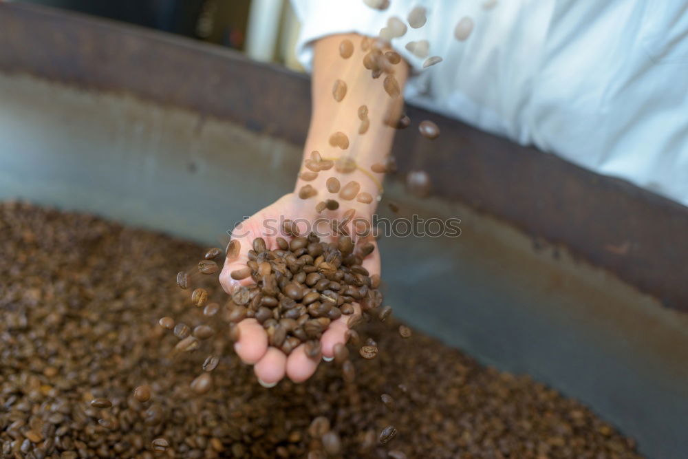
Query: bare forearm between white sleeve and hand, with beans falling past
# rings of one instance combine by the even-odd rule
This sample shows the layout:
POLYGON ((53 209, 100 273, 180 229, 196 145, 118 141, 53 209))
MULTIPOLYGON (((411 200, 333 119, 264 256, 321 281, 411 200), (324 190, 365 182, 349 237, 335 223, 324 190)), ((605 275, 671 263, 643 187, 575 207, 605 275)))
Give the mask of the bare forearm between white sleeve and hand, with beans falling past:
MULTIPOLYGON (((385 164, 396 129, 389 127, 386 118, 391 111, 398 111, 401 107, 401 96, 392 97, 385 91, 384 81, 387 74, 379 78, 372 78, 371 71, 363 65, 363 57, 367 51, 361 50, 363 37, 356 34, 328 36, 319 40, 314 48, 313 76, 312 76, 312 116, 308 138, 304 147, 304 160, 309 160, 312 151, 319 151, 325 160, 351 158, 356 162, 357 169, 350 173, 337 171, 336 167, 319 171, 315 180, 302 180, 296 184, 296 193, 305 185, 312 186, 317 195, 308 199, 315 206, 317 202, 327 199, 338 200, 340 206, 356 208, 358 215, 369 216, 374 213, 377 197, 381 191, 384 173, 371 170, 373 164, 385 164), (350 58, 340 55, 339 47, 343 40, 348 39, 354 45, 354 53, 350 58), (333 87, 335 81, 341 80, 346 84, 346 94, 341 101, 335 100, 333 87), (367 107, 367 121, 361 120, 359 108, 367 107), (362 125, 368 123, 363 134, 362 125), (335 132, 342 132, 348 140, 347 149, 330 145, 330 137, 335 132), (356 181, 361 185, 360 193, 369 193, 372 202, 361 202, 354 198, 347 202, 338 194, 327 191, 328 178, 336 178, 345 186, 356 181), (361 215, 367 214, 367 215, 361 215)), ((385 50, 383 50, 384 52, 385 50)), ((405 84, 408 67, 404 61, 396 65, 389 65, 394 72, 400 89, 405 84)), ((392 116, 394 118, 394 115, 392 116)), ((365 128, 365 126, 364 126, 365 128)), ((308 169, 301 167, 301 172, 308 169)), ((367 198, 363 195, 363 200, 367 198)))

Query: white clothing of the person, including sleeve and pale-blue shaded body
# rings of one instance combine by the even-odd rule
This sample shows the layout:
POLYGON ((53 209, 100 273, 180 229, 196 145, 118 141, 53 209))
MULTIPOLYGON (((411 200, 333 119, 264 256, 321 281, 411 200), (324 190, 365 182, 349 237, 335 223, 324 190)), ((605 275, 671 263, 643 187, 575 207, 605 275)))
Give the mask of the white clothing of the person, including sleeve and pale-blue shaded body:
POLYGON ((292 0, 312 42, 427 8, 427 23, 392 41, 413 67, 406 99, 475 127, 535 145, 688 205, 688 2, 685 0, 292 0), (466 41, 453 36, 464 16, 466 41), (405 49, 427 39, 444 61, 422 70, 405 49))

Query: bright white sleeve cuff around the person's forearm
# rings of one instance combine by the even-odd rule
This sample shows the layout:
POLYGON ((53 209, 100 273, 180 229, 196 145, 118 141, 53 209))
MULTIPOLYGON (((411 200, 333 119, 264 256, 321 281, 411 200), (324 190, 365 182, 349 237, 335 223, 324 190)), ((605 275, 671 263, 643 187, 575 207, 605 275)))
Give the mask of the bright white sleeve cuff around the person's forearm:
MULTIPOLYGON (((387 25, 387 19, 398 17, 407 24, 407 15, 418 0, 394 0, 387 10, 370 8, 363 0, 291 0, 294 12, 301 22, 296 54, 299 63, 310 72, 313 61, 313 42, 332 34, 358 33, 378 36, 387 25)), ((424 39, 422 28, 409 28, 407 34, 392 41, 392 47, 413 67, 422 67, 422 61, 405 49, 405 43, 424 39)), ((358 46, 358 43, 354 43, 358 46)))

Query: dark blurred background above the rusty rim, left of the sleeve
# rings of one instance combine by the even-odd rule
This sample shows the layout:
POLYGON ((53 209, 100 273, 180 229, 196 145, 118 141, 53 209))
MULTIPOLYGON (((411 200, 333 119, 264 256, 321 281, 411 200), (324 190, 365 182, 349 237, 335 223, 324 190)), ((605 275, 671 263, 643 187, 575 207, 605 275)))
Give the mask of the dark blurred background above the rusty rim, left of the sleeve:
POLYGON ((302 71, 289 0, 15 0, 107 17, 246 52, 302 71))

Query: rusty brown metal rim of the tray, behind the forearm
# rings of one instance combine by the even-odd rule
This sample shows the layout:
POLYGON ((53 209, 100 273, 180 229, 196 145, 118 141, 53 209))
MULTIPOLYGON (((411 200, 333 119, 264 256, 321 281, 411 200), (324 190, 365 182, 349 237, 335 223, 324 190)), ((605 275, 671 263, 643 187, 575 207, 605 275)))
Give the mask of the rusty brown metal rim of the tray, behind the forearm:
MULTIPOLYGON (((222 47, 80 14, 0 4, 0 70, 126 92, 303 142, 308 78, 222 47)), ((688 208, 456 120, 408 107, 394 151, 401 173, 428 171, 433 192, 569 248, 665 306, 688 311, 688 208), (426 140, 417 124, 442 131, 426 140)))

